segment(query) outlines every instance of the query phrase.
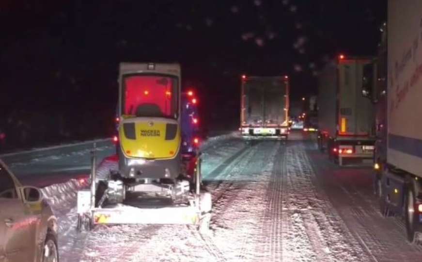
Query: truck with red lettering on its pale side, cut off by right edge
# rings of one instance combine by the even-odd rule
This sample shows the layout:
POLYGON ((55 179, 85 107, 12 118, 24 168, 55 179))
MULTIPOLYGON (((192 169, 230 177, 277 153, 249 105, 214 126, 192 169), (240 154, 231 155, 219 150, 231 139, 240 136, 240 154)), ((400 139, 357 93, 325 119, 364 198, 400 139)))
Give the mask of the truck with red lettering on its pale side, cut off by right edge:
POLYGON ((378 56, 362 94, 376 105, 375 193, 384 216, 405 220, 407 239, 422 232, 422 2, 388 1, 378 56))

